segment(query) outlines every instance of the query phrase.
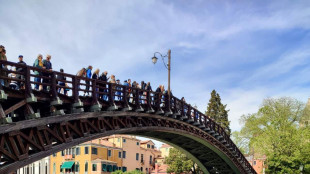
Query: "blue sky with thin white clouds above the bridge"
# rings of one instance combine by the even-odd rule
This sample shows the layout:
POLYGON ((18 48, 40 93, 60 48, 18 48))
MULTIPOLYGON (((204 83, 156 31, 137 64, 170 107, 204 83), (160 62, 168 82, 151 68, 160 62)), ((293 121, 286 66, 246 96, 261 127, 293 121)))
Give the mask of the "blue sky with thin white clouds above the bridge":
POLYGON ((310 1, 1 1, 0 44, 10 61, 51 54, 55 70, 93 65, 121 80, 167 87, 153 53, 172 50, 173 94, 205 111, 216 89, 232 130, 267 97, 306 102, 310 1))

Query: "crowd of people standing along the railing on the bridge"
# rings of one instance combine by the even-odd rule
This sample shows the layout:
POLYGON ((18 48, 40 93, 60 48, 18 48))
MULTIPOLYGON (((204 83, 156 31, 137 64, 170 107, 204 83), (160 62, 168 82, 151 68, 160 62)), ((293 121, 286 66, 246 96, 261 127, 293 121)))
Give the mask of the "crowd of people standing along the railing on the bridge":
MULTIPOLYGON (((48 91, 49 89, 49 82, 50 82, 50 77, 51 77, 51 73, 53 71, 52 68, 52 62, 51 62, 51 55, 47 54, 46 58, 43 59, 43 55, 39 54, 36 58, 36 60, 33 63, 33 67, 36 67, 38 69, 45 69, 47 71, 44 72, 40 72, 38 70, 34 70, 33 74, 35 75, 34 77, 34 90, 43 90, 43 91, 48 91)), ((4 60, 7 61, 7 57, 6 57, 6 50, 5 47, 0 45, 0 60, 4 60)), ((18 56, 18 64, 21 65, 27 65, 24 61, 23 61, 23 55, 19 55, 18 56)), ((1 71, 1 69, 7 69, 6 65, 1 65, 0 67, 0 76, 8 76, 12 79, 16 78, 16 79, 24 79, 24 72, 25 72, 25 68, 23 67, 12 67, 11 71, 16 71, 16 72, 20 72, 20 73, 7 73, 6 71, 1 71)), ((116 79, 115 75, 111 75, 110 77, 108 77, 108 72, 107 71, 103 71, 100 74, 100 70, 96 69, 94 72, 92 72, 93 67, 91 65, 89 65, 87 68, 82 68, 81 70, 79 70, 77 72, 77 76, 78 77, 83 77, 86 78, 85 81, 85 92, 84 92, 84 96, 89 96, 90 93, 90 86, 91 86, 91 80, 87 80, 87 79, 95 79, 95 80, 100 80, 102 82, 109 82, 109 83, 113 83, 113 84, 117 84, 114 85, 113 87, 113 91, 115 91, 115 100, 122 100, 122 90, 123 90, 123 86, 126 87, 127 90, 127 99, 128 101, 132 101, 134 102, 134 98, 136 97, 136 92, 134 91, 134 89, 142 89, 144 91, 153 91, 151 83, 147 82, 145 83, 144 81, 141 81, 140 83, 137 81, 131 81, 131 79, 127 79, 124 80, 123 84, 120 82, 119 79, 116 79)), ((64 73, 63 69, 60 69, 61 73, 64 73)), ((63 74, 58 74, 57 77, 57 84, 61 87, 59 87, 57 89, 57 91, 59 93, 62 93, 64 95, 68 94, 69 89, 66 87, 69 87, 68 84, 65 82, 66 81, 66 77, 63 74)), ((0 85, 1 86, 7 86, 10 87, 12 89, 24 89, 24 83, 21 81, 14 81, 14 80, 5 80, 0 78, 0 85)), ((104 95, 104 93, 108 92, 108 89, 106 88, 106 84, 105 83, 98 83, 97 84, 99 86, 98 89, 96 89, 97 91, 99 91, 100 95, 98 95, 98 97, 102 100, 108 100, 107 95, 104 95)), ((78 85, 78 88, 80 89, 80 85, 78 85)), ((164 85, 159 85, 158 88, 155 90, 155 92, 158 93, 166 93, 167 91, 165 91, 164 85)), ((141 91, 139 93, 140 96, 140 102, 144 103, 145 99, 146 99, 146 92, 141 91)))

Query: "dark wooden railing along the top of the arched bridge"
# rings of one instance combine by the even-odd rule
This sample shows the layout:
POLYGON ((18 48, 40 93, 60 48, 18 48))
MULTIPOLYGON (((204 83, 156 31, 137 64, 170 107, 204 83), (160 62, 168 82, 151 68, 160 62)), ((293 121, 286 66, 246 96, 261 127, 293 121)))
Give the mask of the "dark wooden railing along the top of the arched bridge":
MULTIPOLYGON (((223 127, 190 104, 187 104, 175 96, 171 96, 170 100, 168 100, 167 93, 127 87, 120 84, 89 79, 57 71, 49 71, 9 61, 0 61, 0 79, 23 83, 24 88, 20 89, 20 91, 24 91, 26 97, 29 97, 33 93, 32 90, 34 89, 34 85, 41 85, 49 87, 48 92, 53 99, 60 95, 59 89, 62 89, 67 90, 67 96, 72 99, 73 102, 77 102, 82 93, 89 93, 89 97, 92 98, 91 104, 103 102, 112 106, 119 103, 124 108, 144 108, 146 111, 163 114, 168 113, 168 116, 171 112, 171 115, 174 115, 175 118, 198 126, 213 135, 225 144, 239 161, 243 162, 246 167, 251 168, 249 166, 250 164, 246 162, 245 157, 231 141, 223 127), (9 67, 15 67, 16 71, 10 70, 9 67), (34 72, 38 73, 34 74, 34 72), (17 74, 17 76, 9 76, 9 74, 17 74), (57 79, 57 76, 63 76, 66 80, 57 79), (44 82, 36 82, 34 78, 45 80, 44 82), (63 82, 66 86, 64 86, 64 84, 60 85, 59 82, 63 82), (170 101, 170 103, 168 101, 170 101)), ((0 88, 2 89, 1 85, 0 88)))

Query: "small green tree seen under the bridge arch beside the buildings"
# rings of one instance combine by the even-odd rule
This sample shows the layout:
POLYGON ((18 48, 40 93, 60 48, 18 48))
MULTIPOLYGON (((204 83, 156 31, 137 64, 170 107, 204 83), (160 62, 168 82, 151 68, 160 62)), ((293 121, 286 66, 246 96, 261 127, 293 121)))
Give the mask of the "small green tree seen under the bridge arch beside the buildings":
POLYGON ((170 149, 169 156, 165 159, 165 163, 169 165, 167 169, 168 173, 202 173, 202 170, 197 164, 175 148, 170 149))

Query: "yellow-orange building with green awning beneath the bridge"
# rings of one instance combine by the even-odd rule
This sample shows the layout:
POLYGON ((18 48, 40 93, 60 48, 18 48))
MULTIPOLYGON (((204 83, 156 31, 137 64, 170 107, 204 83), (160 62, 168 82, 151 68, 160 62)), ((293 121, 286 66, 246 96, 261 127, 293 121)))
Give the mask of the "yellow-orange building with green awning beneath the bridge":
POLYGON ((55 153, 50 158, 50 174, 105 174, 122 168, 123 150, 100 139, 55 153))

